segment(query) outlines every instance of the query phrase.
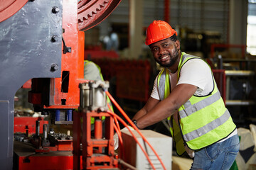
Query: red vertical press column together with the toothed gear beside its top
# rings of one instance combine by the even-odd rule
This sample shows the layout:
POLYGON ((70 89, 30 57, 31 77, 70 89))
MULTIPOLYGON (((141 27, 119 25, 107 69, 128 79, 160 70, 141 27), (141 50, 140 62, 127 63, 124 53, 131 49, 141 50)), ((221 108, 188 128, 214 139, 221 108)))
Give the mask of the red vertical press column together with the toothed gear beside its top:
POLYGON ((87 30, 103 21, 119 2, 95 0, 79 1, 76 4, 73 1, 63 1, 62 75, 54 79, 32 79, 28 101, 34 104, 35 109, 41 111, 78 108, 78 84, 85 82, 83 79, 85 35, 79 30, 87 30))

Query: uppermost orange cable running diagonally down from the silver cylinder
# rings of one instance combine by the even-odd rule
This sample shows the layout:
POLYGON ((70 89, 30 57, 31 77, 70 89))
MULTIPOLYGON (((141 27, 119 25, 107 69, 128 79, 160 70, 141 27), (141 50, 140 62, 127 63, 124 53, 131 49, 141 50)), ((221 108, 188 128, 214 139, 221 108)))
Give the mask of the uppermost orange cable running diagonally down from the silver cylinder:
MULTIPOLYGON (((156 153, 155 149, 149 144, 148 140, 146 140, 146 137, 144 137, 144 135, 142 135, 142 132, 139 132, 139 129, 137 128, 136 125, 134 125, 134 123, 132 123, 132 120, 127 116, 126 113, 124 113, 124 111, 122 110, 122 108, 118 105, 117 101, 114 100, 114 98, 111 96, 110 92, 105 91, 105 93, 107 94, 107 96, 109 96, 110 100, 114 103, 114 105, 117 107, 117 109, 122 113, 122 115, 124 116, 124 118, 127 119, 129 125, 132 125, 132 128, 134 128, 134 130, 136 130, 139 135, 142 136, 142 139, 149 145, 149 147, 152 149, 152 151, 154 152, 154 154, 156 155, 157 159, 159 159, 159 162, 161 163, 161 165, 163 166, 163 168, 166 170, 166 167, 164 166, 164 163, 161 161, 159 155, 156 153)), ((118 117, 117 117, 118 118, 118 117)), ((128 128, 129 129, 129 128, 128 128)), ((129 130, 131 132, 131 130, 129 130)), ((132 132, 131 132, 132 133, 132 132)), ((139 144, 139 143, 138 143, 139 144)), ((152 166, 153 167, 153 166, 152 166)))

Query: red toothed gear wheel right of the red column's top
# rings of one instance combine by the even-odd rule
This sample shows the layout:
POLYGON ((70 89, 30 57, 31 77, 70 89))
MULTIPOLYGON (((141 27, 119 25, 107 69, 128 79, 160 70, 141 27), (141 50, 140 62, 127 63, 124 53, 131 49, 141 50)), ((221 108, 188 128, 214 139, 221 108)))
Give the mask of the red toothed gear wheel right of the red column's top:
POLYGON ((103 21, 121 0, 82 0, 78 2, 78 28, 88 30, 103 21))

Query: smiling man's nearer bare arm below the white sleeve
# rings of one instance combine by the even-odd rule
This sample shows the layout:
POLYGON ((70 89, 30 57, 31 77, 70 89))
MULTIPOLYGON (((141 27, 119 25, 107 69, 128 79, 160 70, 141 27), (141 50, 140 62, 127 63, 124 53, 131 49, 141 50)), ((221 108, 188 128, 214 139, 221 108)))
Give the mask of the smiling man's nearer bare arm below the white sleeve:
MULTIPOLYGON (((195 94, 196 89, 198 89, 198 87, 191 84, 178 84, 163 101, 158 103, 153 101, 154 104, 152 105, 150 104, 152 101, 149 101, 148 107, 150 109, 148 108, 146 110, 147 107, 144 106, 144 108, 137 113, 138 116, 137 114, 134 116, 134 119, 137 120, 137 126, 143 129, 173 115, 183 103, 188 101, 188 99, 195 94)), ((149 100, 151 100, 151 98, 149 98, 149 100)))

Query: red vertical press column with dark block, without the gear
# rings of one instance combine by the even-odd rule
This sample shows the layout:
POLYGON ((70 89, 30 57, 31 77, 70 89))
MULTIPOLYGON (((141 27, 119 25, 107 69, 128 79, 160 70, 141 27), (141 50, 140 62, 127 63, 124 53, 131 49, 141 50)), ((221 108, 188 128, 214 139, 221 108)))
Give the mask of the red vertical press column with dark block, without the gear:
POLYGON ((78 30, 77 4, 63 1, 63 51, 61 77, 54 79, 32 79, 28 101, 34 104, 35 110, 42 111, 54 108, 78 108, 78 84, 83 79, 84 33, 78 30))

